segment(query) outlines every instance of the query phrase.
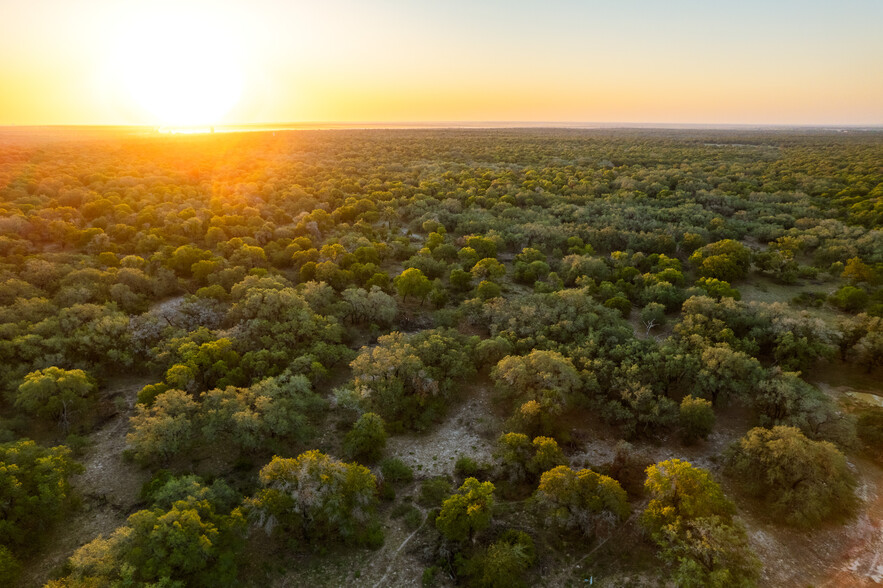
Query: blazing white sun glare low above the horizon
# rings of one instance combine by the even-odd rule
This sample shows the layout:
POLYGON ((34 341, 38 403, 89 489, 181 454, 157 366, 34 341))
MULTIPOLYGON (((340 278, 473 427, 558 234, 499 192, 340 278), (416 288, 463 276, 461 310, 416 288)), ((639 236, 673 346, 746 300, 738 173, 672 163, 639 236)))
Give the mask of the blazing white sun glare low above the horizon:
POLYGON ((119 82, 160 125, 215 124, 242 94, 234 35, 200 15, 133 15, 118 45, 119 82))

